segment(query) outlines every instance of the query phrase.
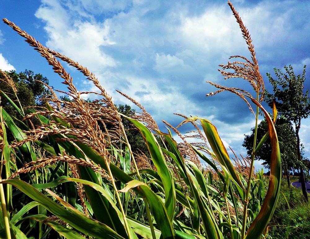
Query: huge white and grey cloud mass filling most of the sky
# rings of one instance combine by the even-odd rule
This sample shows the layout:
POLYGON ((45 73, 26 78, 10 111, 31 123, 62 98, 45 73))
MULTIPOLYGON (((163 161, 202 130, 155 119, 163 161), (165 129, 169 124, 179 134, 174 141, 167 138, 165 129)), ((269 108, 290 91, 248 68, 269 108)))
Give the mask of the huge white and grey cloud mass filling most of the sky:
MULTIPOLYGON (((249 5, 248 1, 238 2, 235 7, 248 26, 258 60, 264 60, 263 69, 270 72, 277 67, 270 65, 270 59, 276 61, 281 55, 289 55, 289 44, 297 44, 294 41, 301 28, 294 27, 291 19, 298 16, 298 7, 290 5, 292 1, 273 4, 260 1, 249 5)), ((36 16, 46 23, 47 46, 94 72, 116 102, 128 104, 122 96, 114 94, 115 88, 152 110, 157 119, 169 121, 175 112, 200 116, 209 113, 206 118, 213 117, 219 123, 225 145, 244 152, 240 145, 253 124, 245 123, 248 119, 234 117, 241 113, 241 107, 221 104, 223 116, 217 108, 218 100, 201 100, 214 91, 204 79, 223 83, 218 64, 225 64, 230 55, 249 56, 226 4, 209 4, 197 10, 195 4, 169 1, 43 0, 42 3, 36 16), (211 113, 212 107, 215 110, 211 113), (225 123, 223 117, 225 122, 231 119, 231 124, 225 123), (237 124, 237 120, 242 122, 237 124)), ((306 30, 304 25, 303 32, 306 30)), ((305 56, 298 64, 309 62, 305 56)), ((241 88, 245 84, 242 80, 223 83, 241 88)), ((86 91, 96 90, 87 83, 80 86, 86 91)), ((215 97, 232 102, 231 95, 215 97)))

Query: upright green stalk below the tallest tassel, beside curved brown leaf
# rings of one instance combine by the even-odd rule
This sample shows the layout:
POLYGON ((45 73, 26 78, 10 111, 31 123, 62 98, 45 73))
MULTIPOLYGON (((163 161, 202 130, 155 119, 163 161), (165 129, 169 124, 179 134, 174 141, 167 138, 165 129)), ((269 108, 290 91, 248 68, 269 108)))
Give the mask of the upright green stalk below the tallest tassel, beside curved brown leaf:
MULTIPOLYGON (((259 101, 259 90, 257 90, 256 100, 259 101)), ((245 235, 246 235, 246 219, 247 219, 247 212, 248 212, 251 180, 252 180, 252 174, 253 174, 253 168, 254 168, 254 159, 255 159, 255 153, 254 152, 255 152, 255 149, 256 149, 256 138, 257 138, 257 128, 258 128, 258 114, 259 114, 259 107, 256 106, 253 151, 252 151, 252 154, 251 154, 250 173, 249 173, 248 183, 247 183, 247 187, 246 187, 246 196, 245 196, 245 199, 244 199, 241 238, 244 238, 245 235)))

